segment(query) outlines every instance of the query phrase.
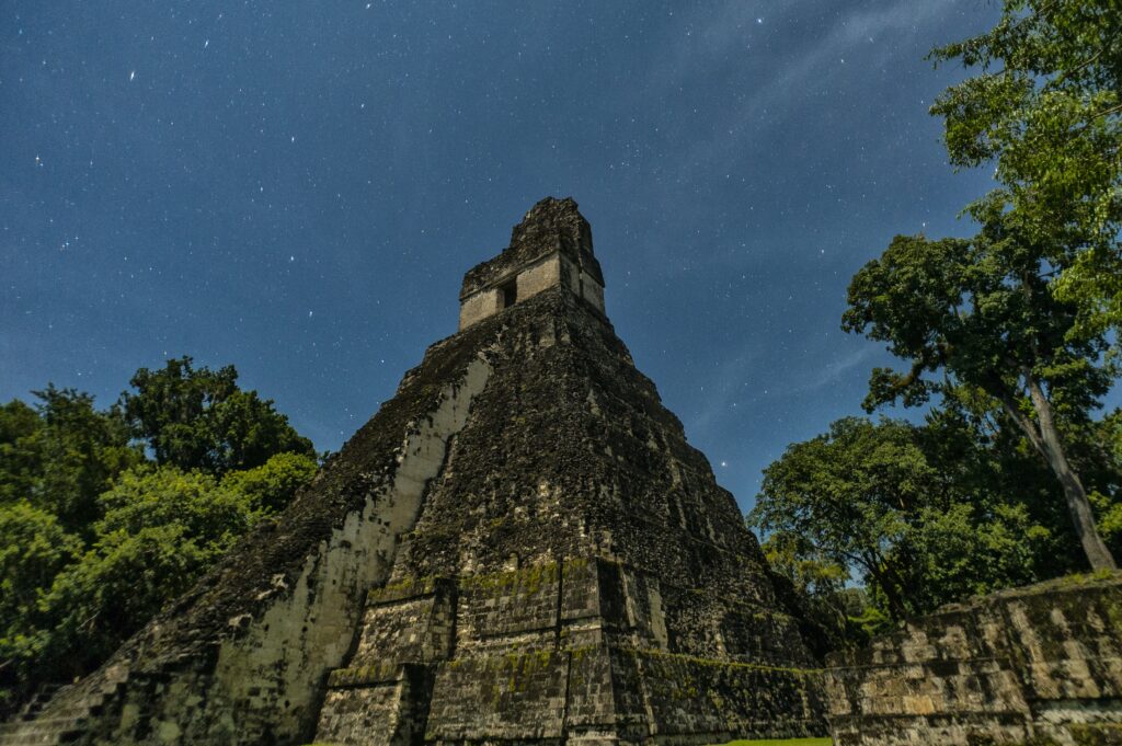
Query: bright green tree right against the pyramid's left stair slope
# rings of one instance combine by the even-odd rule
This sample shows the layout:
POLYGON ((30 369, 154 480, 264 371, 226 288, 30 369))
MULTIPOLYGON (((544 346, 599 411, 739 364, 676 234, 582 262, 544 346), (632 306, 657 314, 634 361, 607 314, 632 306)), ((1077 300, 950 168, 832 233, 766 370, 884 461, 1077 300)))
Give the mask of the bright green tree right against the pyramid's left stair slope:
POLYGON ((263 518, 315 475, 315 461, 282 453, 219 479, 146 464, 101 496, 104 517, 83 554, 42 591, 36 678, 82 675, 188 590, 263 518))

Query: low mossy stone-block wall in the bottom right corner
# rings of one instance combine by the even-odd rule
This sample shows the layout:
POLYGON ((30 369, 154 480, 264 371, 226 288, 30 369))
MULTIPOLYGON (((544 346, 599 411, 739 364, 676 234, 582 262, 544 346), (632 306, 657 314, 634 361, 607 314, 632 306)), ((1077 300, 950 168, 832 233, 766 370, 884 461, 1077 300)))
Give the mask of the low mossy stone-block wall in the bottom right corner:
POLYGON ((827 664, 837 746, 1122 744, 1122 573, 947 606, 827 664))

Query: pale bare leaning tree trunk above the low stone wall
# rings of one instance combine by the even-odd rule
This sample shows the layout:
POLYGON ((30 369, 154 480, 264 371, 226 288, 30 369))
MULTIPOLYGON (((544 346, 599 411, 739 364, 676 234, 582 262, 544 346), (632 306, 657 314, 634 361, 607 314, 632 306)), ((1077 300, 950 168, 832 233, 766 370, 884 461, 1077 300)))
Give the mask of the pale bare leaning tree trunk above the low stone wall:
MULTIPOLYGON (((1034 376, 1026 371, 1024 379, 1029 386, 1029 396, 1032 398, 1032 408, 1037 412, 1037 423, 1040 427, 1039 433, 1031 432, 1029 439, 1045 457, 1064 488, 1067 510, 1072 516, 1072 523, 1075 524, 1075 533, 1083 544, 1083 551, 1087 555, 1087 562, 1091 563, 1093 570, 1115 570, 1118 564, 1115 564, 1114 556, 1106 549, 1106 544, 1103 543, 1098 529, 1095 527, 1095 515, 1091 510, 1091 501, 1087 500, 1087 492, 1083 489, 1079 475, 1072 469, 1072 464, 1068 463, 1067 457, 1064 454, 1059 433, 1056 431, 1056 422, 1052 420, 1051 405, 1034 376)), ((1028 424, 1032 430, 1031 423, 1028 424)))

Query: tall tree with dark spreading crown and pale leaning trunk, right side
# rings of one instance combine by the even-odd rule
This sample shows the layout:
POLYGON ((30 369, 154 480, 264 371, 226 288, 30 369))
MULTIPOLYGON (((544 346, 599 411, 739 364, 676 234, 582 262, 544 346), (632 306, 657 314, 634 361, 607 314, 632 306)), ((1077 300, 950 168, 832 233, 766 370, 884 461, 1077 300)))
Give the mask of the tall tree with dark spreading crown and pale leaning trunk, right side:
POLYGON ((854 276, 843 329, 910 362, 874 370, 865 407, 922 404, 960 385, 985 392, 1059 481, 1089 564, 1114 568, 1065 448, 1110 386, 1105 338, 1073 333, 1078 308, 1049 291, 1048 246, 1000 212, 983 218, 972 240, 899 236, 854 276))

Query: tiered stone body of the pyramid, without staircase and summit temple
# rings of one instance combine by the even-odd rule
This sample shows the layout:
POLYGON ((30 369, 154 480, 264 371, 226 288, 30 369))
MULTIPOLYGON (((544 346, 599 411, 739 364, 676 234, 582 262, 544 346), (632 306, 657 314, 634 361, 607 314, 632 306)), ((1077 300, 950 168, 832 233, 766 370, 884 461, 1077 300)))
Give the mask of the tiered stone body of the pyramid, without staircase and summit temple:
POLYGON ((504 312, 490 385, 370 591, 318 742, 821 733, 817 664, 735 501, 577 303, 504 312))

